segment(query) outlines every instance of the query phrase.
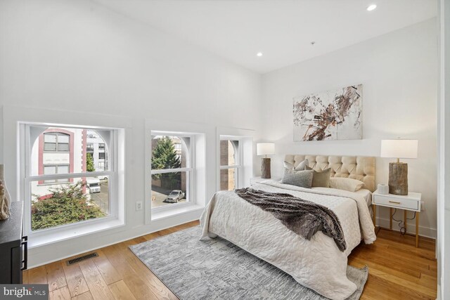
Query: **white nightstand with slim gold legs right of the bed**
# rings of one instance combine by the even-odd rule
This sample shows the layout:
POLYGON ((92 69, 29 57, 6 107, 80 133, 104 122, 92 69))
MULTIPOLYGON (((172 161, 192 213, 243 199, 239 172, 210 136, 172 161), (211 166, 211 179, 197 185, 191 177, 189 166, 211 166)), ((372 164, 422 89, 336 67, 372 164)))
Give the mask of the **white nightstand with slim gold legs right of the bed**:
POLYGON ((422 194, 409 192, 406 196, 380 194, 375 190, 372 194, 373 206, 373 225, 376 226, 376 206, 390 208, 390 229, 392 230, 392 209, 404 210, 404 227, 406 230, 406 213, 407 211, 416 212, 416 248, 419 245, 419 214, 420 214, 420 199, 422 194))

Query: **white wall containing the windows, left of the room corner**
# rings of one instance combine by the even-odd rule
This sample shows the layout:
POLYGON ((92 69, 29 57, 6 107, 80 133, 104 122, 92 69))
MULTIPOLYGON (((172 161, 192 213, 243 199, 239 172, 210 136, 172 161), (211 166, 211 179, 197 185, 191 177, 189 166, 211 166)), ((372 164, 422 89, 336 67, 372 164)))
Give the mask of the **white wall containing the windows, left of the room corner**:
MULTIPOLYGON (((195 211, 146 226, 144 211, 135 211, 135 202, 144 200, 146 118, 259 129, 259 74, 90 1, 1 1, 0 66, 0 107, 132 120, 126 145, 127 225, 31 249, 30 266, 198 219, 195 211)), ((80 122, 89 123, 89 117, 80 122)), ((2 119, 0 124, 0 138, 15 134, 2 119)), ((207 138, 215 145, 215 136, 207 138)), ((6 157, 3 144, 0 163, 12 183, 17 157, 6 157)), ((207 197, 215 190, 215 170, 210 173, 207 197)))

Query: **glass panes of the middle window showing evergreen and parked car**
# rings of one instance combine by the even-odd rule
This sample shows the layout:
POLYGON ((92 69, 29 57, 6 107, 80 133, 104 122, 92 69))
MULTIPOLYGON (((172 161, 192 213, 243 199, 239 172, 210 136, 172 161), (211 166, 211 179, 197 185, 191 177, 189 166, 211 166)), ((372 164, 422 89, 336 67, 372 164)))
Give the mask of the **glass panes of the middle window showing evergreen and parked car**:
POLYGON ((152 133, 151 207, 191 201, 193 136, 152 133))

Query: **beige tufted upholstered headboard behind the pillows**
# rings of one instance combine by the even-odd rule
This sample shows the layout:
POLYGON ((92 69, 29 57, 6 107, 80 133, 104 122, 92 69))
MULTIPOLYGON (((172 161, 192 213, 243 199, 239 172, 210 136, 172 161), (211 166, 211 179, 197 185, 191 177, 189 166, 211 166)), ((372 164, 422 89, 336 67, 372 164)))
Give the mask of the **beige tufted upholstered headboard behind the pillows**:
POLYGON ((316 171, 331 168, 331 177, 348 177, 364 182, 365 188, 375 190, 375 157, 368 156, 324 156, 286 155, 285 161, 297 167, 308 159, 309 167, 316 171))

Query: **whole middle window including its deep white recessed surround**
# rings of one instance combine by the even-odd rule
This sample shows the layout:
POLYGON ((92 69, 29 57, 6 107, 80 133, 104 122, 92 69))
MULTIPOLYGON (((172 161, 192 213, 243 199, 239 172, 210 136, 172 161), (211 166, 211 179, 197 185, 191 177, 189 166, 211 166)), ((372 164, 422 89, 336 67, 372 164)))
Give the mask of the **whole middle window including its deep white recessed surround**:
MULTIPOLYGON (((206 155, 207 136, 214 136, 215 133, 214 126, 205 124, 180 122, 170 118, 167 120, 146 119, 146 224, 181 214, 196 214, 195 211, 200 213, 203 210, 209 200, 207 181, 212 183, 217 179, 217 176, 211 176, 207 171, 214 170, 214 155, 208 157, 206 155), (163 156, 160 150, 168 148, 162 141, 163 137, 172 138, 173 149, 169 151, 169 156, 179 157, 180 167, 170 167, 169 164, 165 166, 161 162, 165 159, 158 159, 163 156), (157 150, 157 148, 160 149, 157 150), (179 176, 176 181, 181 186, 164 188, 169 182, 163 183, 158 175, 169 173, 179 176), (181 198, 179 195, 176 203, 177 197, 173 197, 172 194, 171 198, 174 199, 166 201, 174 190, 184 193, 184 197, 181 198)), ((106 147, 108 148, 108 145, 106 147)), ((172 183, 174 182, 172 180, 172 183)))

